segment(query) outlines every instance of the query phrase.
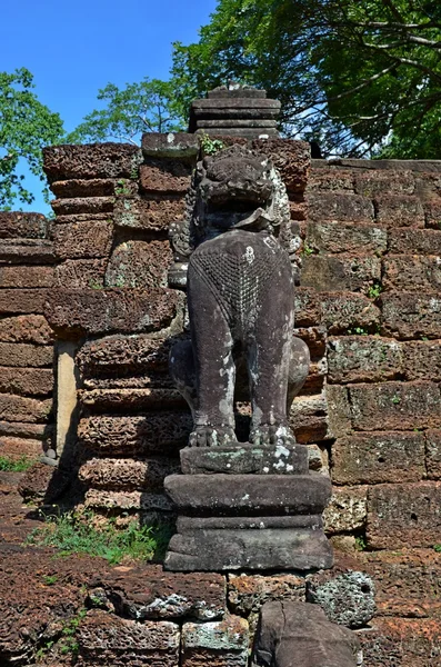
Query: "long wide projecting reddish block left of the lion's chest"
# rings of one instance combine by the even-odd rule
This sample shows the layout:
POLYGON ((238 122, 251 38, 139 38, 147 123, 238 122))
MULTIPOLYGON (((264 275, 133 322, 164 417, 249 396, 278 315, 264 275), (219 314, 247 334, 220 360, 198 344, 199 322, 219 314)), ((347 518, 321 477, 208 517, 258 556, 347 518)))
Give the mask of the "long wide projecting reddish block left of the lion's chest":
POLYGON ((162 288, 54 289, 44 307, 46 317, 58 334, 80 336, 87 331, 159 331, 169 327, 181 310, 182 296, 162 288))

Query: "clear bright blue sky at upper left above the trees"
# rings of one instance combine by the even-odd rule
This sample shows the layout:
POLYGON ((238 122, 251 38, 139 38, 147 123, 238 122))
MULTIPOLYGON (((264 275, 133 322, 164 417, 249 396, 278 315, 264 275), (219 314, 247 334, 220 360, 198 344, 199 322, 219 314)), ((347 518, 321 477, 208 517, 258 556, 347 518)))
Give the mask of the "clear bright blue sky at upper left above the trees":
MULTIPOLYGON (((97 92, 143 77, 167 79, 171 42, 190 43, 217 0, 7 0, 1 10, 0 70, 28 68, 39 100, 67 131, 98 107, 97 92)), ((47 212, 39 181, 29 180, 47 212)))

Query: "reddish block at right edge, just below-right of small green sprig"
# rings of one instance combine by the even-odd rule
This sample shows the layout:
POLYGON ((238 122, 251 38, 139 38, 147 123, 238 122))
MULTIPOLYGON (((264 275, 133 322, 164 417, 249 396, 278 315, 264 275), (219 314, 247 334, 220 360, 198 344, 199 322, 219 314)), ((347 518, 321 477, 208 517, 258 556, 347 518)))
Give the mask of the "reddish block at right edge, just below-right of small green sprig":
POLYGON ((380 296, 382 334, 395 338, 441 338, 439 292, 394 292, 380 296))

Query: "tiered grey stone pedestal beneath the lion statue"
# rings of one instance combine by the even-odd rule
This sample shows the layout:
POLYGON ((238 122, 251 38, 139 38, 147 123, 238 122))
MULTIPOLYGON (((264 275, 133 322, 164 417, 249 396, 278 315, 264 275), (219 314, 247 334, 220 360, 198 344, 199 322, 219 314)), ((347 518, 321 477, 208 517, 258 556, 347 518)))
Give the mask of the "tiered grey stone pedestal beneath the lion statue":
POLYGON ((186 448, 166 478, 178 508, 169 570, 309 570, 332 566, 321 512, 328 477, 308 470, 302 445, 186 448))

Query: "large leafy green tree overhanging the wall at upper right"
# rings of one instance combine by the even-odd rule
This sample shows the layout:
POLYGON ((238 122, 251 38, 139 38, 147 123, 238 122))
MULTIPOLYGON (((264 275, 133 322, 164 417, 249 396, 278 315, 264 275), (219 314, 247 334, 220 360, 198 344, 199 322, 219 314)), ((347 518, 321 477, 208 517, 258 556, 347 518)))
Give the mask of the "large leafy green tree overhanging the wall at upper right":
POLYGON ((328 155, 441 158, 439 0, 219 0, 172 73, 181 113, 233 78, 328 155))

